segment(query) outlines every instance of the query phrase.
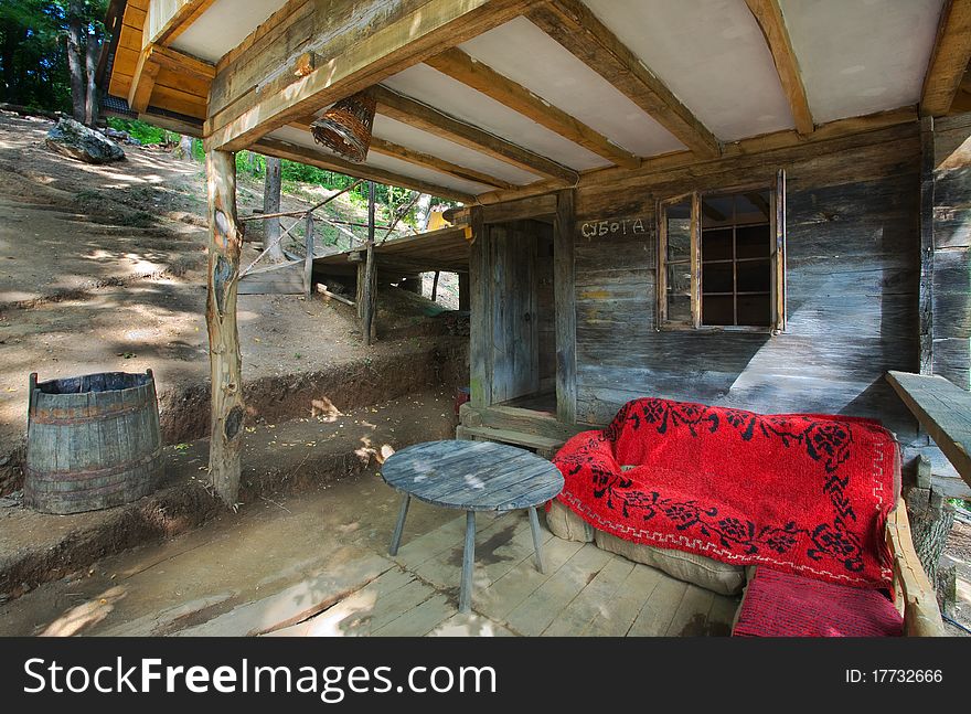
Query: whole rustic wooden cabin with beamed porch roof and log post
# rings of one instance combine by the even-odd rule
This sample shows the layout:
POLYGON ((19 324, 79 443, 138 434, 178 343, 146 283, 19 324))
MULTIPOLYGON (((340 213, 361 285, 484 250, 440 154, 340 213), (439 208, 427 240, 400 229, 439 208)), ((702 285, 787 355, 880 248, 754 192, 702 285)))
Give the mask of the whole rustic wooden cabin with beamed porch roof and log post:
MULTIPOLYGON (((971 388, 971 1, 116 0, 109 21, 113 106, 209 151, 222 490, 252 149, 463 204, 441 267, 468 275, 460 436, 549 451, 643 395, 876 416, 971 494, 967 413, 920 429, 886 379, 971 388), (309 125, 360 90, 353 163, 309 125)), ((386 277, 438 269, 429 239, 386 277)))

